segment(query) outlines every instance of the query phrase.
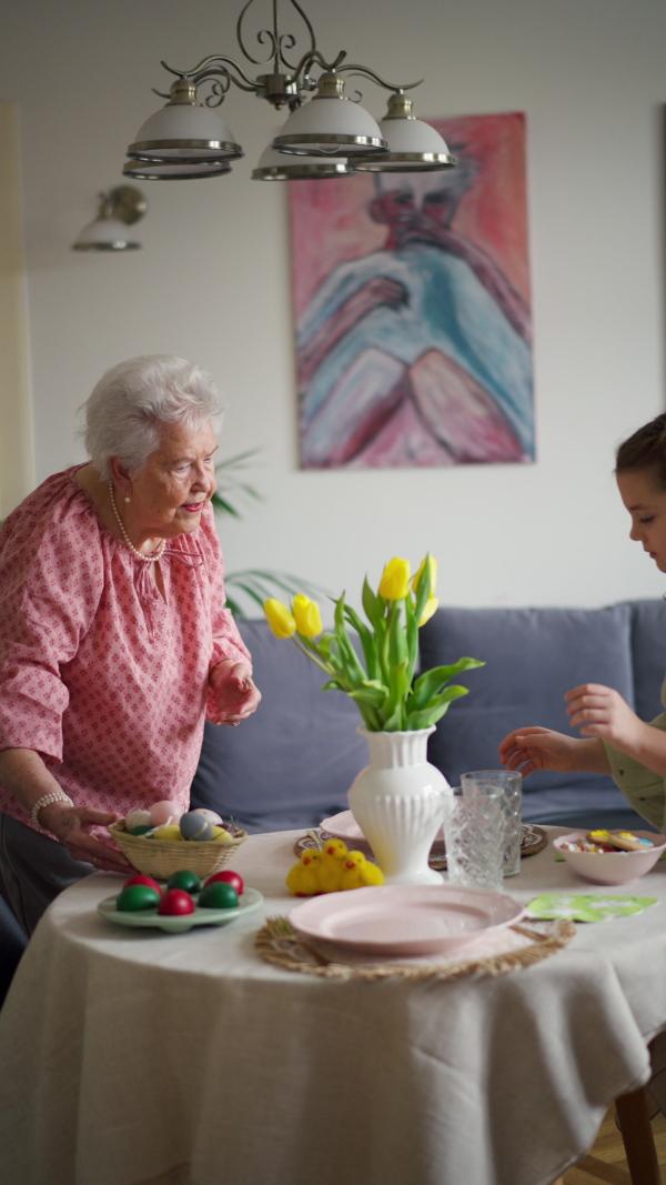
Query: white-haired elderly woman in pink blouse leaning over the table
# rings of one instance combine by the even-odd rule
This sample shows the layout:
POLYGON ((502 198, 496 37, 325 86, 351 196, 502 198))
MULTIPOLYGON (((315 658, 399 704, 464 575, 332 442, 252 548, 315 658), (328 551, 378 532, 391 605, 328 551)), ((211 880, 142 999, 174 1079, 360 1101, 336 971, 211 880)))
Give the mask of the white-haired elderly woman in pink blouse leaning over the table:
POLYGON ((68 884, 127 871, 108 824, 186 811, 204 718, 238 724, 261 698, 224 609, 219 412, 200 367, 121 363, 85 404, 90 462, 0 533, 0 870, 27 933, 68 884))

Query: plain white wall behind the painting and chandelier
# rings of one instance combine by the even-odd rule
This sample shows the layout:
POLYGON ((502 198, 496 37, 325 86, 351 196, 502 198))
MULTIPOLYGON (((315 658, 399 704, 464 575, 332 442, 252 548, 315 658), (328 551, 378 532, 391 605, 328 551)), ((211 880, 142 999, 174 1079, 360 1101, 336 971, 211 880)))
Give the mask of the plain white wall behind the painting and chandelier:
MULTIPOLYGON (((611 467, 617 441, 664 405, 666 7, 307 0, 326 53, 425 78, 417 114, 527 114, 537 463, 353 473, 297 468, 286 191, 249 180, 278 122, 268 104, 226 101, 246 152, 231 177, 142 182, 142 251, 69 250, 159 105, 160 58, 236 53, 239 7, 5 0, 0 101, 21 120, 38 478, 82 457, 76 408, 107 366, 168 351, 223 380, 223 451, 263 450, 265 505, 223 525, 230 569, 283 568, 356 595, 366 570, 430 549, 447 603, 659 596, 611 467)), ((379 117, 383 94, 364 95, 379 117)))

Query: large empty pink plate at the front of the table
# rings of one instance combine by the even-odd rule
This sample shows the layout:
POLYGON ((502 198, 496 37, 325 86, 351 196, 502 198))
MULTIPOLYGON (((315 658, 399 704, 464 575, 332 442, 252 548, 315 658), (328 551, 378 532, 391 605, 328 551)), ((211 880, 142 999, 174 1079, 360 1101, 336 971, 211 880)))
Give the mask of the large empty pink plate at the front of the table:
POLYGON ((409 957, 457 950, 523 912, 512 897, 485 889, 380 885, 312 897, 292 910, 289 921, 322 946, 409 957))

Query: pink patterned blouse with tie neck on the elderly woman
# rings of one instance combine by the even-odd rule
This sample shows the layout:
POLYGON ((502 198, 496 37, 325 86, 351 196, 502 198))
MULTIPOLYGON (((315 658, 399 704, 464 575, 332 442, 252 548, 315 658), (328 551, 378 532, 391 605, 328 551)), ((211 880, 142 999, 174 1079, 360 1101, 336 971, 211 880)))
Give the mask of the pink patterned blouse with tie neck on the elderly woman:
MULTIPOLYGON (((162 597, 78 468, 49 478, 0 533, 0 749, 37 750, 77 806, 186 811, 210 671, 250 658, 223 608, 213 510, 167 544, 162 597)), ((32 826, 1 783, 0 811, 32 826)))

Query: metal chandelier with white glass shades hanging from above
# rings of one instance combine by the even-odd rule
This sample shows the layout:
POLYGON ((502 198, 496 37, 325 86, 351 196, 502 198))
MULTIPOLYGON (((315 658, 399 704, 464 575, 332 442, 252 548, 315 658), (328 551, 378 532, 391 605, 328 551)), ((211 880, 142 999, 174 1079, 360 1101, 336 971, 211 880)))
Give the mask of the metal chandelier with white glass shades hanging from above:
POLYGON ((297 178, 348 177, 367 172, 424 172, 450 168, 455 159, 437 132, 412 113, 405 94, 423 79, 398 85, 386 82, 367 66, 347 64, 342 50, 327 60, 316 47, 314 30, 296 0, 289 0, 307 30, 307 49, 290 62, 296 47, 293 33, 282 32, 280 0, 271 0, 273 28, 256 34, 258 56, 245 40, 245 17, 255 0, 246 0, 236 25, 243 57, 265 72, 251 78, 233 58, 214 53, 192 70, 174 70, 166 107, 152 115, 129 146, 126 177, 146 181, 219 177, 231 172, 231 162, 244 153, 217 108, 231 83, 264 98, 276 110, 289 109, 280 135, 262 154, 252 179, 282 181, 297 178), (263 55, 263 56, 262 56, 263 55), (288 57, 289 56, 289 57, 288 57), (360 95, 345 92, 345 76, 363 77, 390 91, 389 108, 377 123, 360 105, 360 95), (199 88, 207 91, 199 97, 199 88))

